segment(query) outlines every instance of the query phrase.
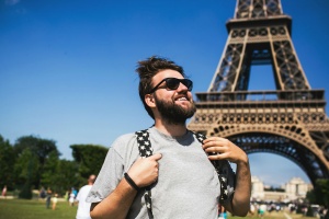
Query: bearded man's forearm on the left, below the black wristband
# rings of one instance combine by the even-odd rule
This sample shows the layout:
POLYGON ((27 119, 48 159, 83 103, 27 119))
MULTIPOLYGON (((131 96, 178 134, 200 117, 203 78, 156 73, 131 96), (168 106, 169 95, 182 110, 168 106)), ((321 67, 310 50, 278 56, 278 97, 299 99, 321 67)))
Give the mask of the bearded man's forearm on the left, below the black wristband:
POLYGON ((123 178, 106 198, 91 205, 91 218, 126 218, 136 194, 137 191, 123 178))

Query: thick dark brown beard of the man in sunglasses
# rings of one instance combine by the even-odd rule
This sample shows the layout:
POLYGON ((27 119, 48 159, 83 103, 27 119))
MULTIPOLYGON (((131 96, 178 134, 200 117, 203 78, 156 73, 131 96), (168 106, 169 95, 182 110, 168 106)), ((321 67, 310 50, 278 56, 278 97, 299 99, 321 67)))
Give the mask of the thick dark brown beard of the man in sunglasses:
POLYGON ((186 119, 191 118, 196 112, 193 102, 191 103, 191 106, 183 108, 180 105, 174 104, 174 102, 160 101, 157 95, 155 95, 155 101, 162 118, 169 124, 184 125, 186 119))

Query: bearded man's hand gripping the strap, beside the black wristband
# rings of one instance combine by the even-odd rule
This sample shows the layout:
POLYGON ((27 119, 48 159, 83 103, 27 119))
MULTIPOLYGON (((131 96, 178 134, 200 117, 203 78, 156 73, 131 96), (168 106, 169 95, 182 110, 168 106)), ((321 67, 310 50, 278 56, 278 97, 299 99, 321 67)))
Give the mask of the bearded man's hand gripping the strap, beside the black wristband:
POLYGON ((156 153, 148 158, 139 158, 128 170, 128 175, 138 187, 145 187, 158 180, 159 163, 162 158, 160 153, 156 153))

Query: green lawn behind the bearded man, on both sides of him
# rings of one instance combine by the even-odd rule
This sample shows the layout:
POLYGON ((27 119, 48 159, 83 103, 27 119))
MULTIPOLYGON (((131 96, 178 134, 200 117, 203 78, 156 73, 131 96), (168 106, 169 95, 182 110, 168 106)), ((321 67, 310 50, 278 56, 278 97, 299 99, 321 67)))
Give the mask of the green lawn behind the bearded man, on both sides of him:
MULTIPOLYGON (((77 206, 69 206, 68 201, 58 201, 56 209, 47 209, 45 200, 0 199, 0 219, 73 219, 77 206)), ((292 219, 317 219, 296 214, 287 214, 292 219)), ((228 216, 228 219, 241 219, 228 216)), ((261 219, 257 215, 243 219, 261 219)), ((265 212, 262 219, 286 219, 282 211, 265 212)))

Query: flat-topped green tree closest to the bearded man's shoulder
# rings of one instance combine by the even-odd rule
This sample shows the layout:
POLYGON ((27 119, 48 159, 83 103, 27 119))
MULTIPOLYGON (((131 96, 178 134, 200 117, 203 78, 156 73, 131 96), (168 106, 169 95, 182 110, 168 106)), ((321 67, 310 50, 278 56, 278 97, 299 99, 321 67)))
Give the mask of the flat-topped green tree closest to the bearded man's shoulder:
POLYGON ((98 174, 107 153, 107 148, 94 145, 72 145, 72 155, 79 163, 79 173, 83 178, 90 174, 98 174))

